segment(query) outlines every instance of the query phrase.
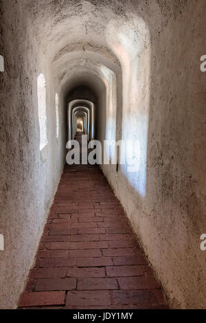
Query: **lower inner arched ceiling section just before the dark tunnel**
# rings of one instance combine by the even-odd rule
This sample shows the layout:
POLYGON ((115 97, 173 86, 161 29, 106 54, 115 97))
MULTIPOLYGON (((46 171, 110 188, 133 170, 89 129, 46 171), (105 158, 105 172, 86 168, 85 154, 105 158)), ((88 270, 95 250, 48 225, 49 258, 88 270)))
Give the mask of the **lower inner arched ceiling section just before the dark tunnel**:
POLYGON ((64 93, 84 82, 99 95, 108 81, 109 74, 121 77, 121 67, 115 56, 107 58, 93 50, 62 51, 54 59, 52 67, 56 82, 64 93))

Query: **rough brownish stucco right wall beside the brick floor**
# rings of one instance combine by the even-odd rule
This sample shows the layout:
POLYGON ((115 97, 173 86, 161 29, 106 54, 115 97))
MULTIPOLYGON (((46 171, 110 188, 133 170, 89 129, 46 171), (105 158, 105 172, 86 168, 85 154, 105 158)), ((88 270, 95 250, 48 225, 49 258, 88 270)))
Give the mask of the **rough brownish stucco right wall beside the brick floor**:
POLYGON ((115 178, 105 170, 174 308, 206 306, 205 12, 204 1, 180 1, 137 69, 123 67, 122 138, 139 140, 141 162, 115 178), (136 82, 124 84, 126 73, 136 82))

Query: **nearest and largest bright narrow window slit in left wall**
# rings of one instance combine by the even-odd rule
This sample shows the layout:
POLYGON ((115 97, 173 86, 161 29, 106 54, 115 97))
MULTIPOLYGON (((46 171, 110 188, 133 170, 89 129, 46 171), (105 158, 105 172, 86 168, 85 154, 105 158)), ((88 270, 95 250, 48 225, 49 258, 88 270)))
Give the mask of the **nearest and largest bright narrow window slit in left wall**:
POLYGON ((40 129, 40 150, 47 144, 47 107, 46 107, 46 82, 43 74, 37 78, 37 96, 38 96, 38 121, 40 129))

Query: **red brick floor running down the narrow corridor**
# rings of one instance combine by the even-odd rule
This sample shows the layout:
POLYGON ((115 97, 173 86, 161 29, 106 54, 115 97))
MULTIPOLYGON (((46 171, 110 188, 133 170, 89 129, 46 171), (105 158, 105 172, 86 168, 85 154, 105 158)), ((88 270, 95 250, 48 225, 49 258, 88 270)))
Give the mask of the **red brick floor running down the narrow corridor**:
POLYGON ((98 166, 65 167, 19 307, 167 308, 98 166))

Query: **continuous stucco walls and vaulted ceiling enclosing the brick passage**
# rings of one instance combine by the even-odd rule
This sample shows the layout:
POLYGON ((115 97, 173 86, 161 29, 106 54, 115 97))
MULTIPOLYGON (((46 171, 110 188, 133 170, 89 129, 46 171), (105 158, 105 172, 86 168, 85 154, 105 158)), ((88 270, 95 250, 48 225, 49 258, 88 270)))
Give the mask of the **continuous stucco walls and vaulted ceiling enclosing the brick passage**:
MULTIPOLYGON (((203 215, 205 0, 0 0, 0 307, 15 307, 65 163, 68 92, 117 85, 116 140, 139 141, 140 167, 103 167, 172 307, 206 306, 203 215), (106 75, 105 71, 109 71, 106 75), (36 80, 47 82, 48 146, 39 152, 36 80), (115 82, 111 75, 115 74, 115 82), (56 140, 55 94, 60 100, 56 140)), ((110 92, 115 104, 115 91, 110 92)), ((114 110, 115 111, 115 110, 114 110)), ((112 113, 113 115, 113 113, 112 113)), ((107 138, 109 139, 109 138, 107 138)))

